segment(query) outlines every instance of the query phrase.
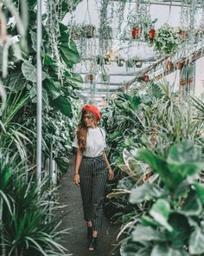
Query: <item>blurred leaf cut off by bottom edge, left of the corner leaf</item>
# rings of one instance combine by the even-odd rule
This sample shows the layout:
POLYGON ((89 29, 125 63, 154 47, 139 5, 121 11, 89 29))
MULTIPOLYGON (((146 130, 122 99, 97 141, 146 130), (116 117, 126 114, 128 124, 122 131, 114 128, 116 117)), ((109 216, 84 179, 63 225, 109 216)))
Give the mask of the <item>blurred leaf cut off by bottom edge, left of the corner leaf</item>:
POLYGON ((188 256, 189 254, 184 250, 176 250, 169 246, 169 244, 159 244, 153 247, 150 256, 188 256))

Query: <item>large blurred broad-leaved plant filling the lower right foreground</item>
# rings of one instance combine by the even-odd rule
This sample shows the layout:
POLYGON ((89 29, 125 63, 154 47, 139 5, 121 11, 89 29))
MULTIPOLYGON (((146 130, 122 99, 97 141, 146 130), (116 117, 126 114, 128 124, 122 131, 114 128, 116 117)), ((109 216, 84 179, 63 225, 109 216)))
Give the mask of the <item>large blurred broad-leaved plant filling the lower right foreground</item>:
POLYGON ((201 255, 203 192, 198 174, 204 167, 201 148, 194 141, 172 146, 166 159, 148 149, 137 151, 137 160, 159 174, 162 183, 131 189, 131 204, 148 201, 150 209, 138 218, 124 240, 122 255, 201 255))

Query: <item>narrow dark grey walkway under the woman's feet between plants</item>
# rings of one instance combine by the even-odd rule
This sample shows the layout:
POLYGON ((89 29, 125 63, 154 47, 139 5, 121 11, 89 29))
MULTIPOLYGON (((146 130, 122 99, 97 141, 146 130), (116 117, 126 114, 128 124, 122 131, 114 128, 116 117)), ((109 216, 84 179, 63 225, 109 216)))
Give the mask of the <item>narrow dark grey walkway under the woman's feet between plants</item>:
POLYGON ((69 253, 73 256, 119 256, 116 237, 118 226, 110 223, 104 217, 103 228, 99 233, 98 246, 96 251, 87 250, 88 240, 86 238, 86 222, 83 219, 83 209, 80 196, 80 187, 73 185, 73 160, 70 163, 67 174, 61 179, 59 190, 61 204, 68 205, 63 212, 66 216, 62 220, 63 228, 71 228, 64 238, 64 244, 69 253))

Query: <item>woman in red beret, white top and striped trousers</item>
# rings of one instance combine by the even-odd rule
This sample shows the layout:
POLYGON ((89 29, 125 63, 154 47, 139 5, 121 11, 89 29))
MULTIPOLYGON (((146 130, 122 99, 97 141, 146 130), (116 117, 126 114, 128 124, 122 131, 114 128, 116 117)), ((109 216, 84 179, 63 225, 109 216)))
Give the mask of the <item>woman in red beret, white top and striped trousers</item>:
POLYGON ((114 173, 104 152, 105 131, 99 128, 99 109, 92 105, 82 108, 82 116, 73 141, 76 148, 73 183, 80 186, 89 251, 97 246, 97 235, 102 224, 102 203, 107 179, 114 173))

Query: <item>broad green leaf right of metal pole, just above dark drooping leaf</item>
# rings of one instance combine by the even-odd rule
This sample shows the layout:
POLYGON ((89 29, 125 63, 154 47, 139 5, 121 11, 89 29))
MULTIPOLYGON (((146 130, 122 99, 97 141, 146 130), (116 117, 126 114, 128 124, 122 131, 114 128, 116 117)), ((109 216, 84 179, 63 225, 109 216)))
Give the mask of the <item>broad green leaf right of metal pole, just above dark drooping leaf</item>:
POLYGON ((47 90, 48 95, 52 99, 61 95, 61 83, 54 81, 51 77, 48 77, 43 81, 43 87, 47 90))

